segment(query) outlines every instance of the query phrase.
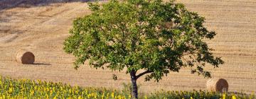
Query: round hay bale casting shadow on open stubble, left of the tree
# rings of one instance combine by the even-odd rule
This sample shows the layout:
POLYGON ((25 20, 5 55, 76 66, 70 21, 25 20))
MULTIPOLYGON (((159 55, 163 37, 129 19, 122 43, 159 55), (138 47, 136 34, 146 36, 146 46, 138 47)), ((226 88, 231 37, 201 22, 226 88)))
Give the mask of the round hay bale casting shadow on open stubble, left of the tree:
POLYGON ((33 64, 35 55, 32 52, 19 51, 16 55, 16 62, 21 64, 33 64))

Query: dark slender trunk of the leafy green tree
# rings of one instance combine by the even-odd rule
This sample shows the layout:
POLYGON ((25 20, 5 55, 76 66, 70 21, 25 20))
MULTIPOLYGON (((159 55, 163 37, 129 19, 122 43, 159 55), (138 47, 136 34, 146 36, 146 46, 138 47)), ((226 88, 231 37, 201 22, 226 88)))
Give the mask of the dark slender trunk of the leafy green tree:
POLYGON ((137 78, 136 73, 134 70, 130 72, 131 79, 132 79, 132 98, 138 98, 138 88, 137 88, 137 78))

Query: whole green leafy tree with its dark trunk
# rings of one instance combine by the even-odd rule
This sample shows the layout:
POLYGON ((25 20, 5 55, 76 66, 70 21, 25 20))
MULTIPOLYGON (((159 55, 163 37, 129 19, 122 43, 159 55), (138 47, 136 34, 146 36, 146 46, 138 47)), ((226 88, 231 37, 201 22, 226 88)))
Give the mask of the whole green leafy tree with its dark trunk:
POLYGON ((204 41, 216 34, 203 26, 204 18, 183 4, 161 0, 111 0, 89 3, 92 13, 73 22, 64 50, 76 58, 75 69, 89 59, 90 66, 127 71, 133 97, 137 79, 161 80, 170 71, 191 69, 210 77, 207 64, 223 64, 204 41), (139 72, 143 70, 143 72, 139 72))

